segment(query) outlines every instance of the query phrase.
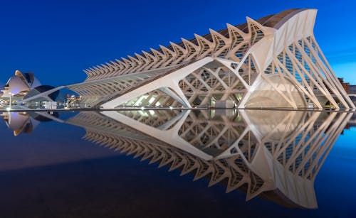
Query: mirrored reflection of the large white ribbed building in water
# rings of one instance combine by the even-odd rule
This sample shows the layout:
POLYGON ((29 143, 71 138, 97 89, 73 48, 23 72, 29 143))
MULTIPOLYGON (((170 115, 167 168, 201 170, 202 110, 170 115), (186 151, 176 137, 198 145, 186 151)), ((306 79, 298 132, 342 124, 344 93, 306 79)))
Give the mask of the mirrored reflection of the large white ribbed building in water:
POLYGON ((85 139, 285 207, 318 207, 314 180, 352 114, 310 111, 81 111, 85 139))

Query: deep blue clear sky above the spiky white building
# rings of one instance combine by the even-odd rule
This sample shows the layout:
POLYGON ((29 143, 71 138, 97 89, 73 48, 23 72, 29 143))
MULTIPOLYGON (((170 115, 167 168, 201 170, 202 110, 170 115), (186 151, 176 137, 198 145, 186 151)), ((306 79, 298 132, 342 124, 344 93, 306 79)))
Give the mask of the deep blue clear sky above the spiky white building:
POLYGON ((0 85, 15 70, 46 85, 85 79, 85 68, 292 8, 318 9, 315 37, 337 76, 356 84, 356 2, 0 1, 0 85))

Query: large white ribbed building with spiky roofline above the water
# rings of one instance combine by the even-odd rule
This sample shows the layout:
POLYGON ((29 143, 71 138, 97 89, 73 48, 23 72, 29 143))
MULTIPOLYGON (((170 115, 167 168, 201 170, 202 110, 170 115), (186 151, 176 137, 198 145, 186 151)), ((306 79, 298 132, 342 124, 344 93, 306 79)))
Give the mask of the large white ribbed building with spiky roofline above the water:
POLYGON ((68 88, 90 106, 355 108, 313 35, 315 9, 291 9, 85 70, 68 88))

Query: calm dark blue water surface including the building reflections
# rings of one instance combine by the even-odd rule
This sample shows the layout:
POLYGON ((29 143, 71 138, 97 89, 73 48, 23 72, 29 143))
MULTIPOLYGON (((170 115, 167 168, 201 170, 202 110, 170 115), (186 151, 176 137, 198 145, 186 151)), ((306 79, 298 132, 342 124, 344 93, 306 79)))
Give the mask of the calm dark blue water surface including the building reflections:
POLYGON ((356 116, 4 112, 0 217, 356 217, 356 116))

